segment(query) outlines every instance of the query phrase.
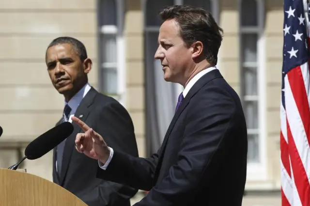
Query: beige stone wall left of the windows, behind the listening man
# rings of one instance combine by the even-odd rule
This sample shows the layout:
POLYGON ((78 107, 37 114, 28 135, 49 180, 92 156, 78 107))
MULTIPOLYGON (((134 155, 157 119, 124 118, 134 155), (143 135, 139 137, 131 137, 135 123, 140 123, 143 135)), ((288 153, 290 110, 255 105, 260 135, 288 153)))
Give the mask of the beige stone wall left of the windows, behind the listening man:
MULTIPOLYGON (((54 127, 62 115, 63 97, 52 87, 45 65, 47 45, 62 35, 85 44, 94 62, 90 82, 96 87, 94 0, 0 1, 0 167, 16 163, 25 145, 54 127)), ((51 180, 51 165, 50 152, 25 160, 22 167, 51 180)))

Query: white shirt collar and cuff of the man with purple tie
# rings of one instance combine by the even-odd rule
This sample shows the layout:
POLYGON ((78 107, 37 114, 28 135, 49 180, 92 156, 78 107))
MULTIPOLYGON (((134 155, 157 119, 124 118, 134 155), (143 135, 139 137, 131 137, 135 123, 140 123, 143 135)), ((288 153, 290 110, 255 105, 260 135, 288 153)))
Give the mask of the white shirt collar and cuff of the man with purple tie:
MULTIPOLYGON (((207 69, 202 70, 201 72, 199 72, 198 74, 196 74, 192 79, 189 80, 189 82, 187 83, 186 87, 183 90, 183 97, 185 98, 185 96, 188 94, 189 90, 194 86, 194 84, 200 79, 202 78, 203 75, 205 75, 206 73, 217 69, 216 66, 213 67, 209 67, 207 69)), ((100 161, 98 161, 99 163, 99 167, 103 170, 106 170, 107 167, 109 166, 109 163, 113 157, 113 149, 111 147, 108 147, 110 150, 110 155, 109 158, 107 160, 107 162, 105 164, 101 163, 100 161)))

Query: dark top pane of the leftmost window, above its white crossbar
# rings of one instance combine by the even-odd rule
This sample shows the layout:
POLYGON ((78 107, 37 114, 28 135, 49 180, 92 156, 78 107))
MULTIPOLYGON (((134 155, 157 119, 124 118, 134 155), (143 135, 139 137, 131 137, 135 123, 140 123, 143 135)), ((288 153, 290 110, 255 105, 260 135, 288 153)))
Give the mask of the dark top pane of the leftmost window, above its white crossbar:
POLYGON ((115 0, 99 0, 99 25, 117 25, 115 0))

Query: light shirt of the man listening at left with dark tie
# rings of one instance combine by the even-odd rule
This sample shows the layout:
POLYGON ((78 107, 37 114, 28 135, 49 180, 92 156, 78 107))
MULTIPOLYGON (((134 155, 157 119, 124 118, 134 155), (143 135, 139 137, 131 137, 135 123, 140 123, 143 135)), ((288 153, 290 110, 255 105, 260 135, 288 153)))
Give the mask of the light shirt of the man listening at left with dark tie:
MULTIPOLYGON (((74 116, 75 112, 78 109, 79 104, 81 103, 84 96, 89 92, 91 89, 91 85, 89 83, 85 84, 82 89, 78 91, 76 95, 74 95, 69 102, 64 101, 64 105, 68 104, 71 108, 71 111, 69 113, 69 119, 68 122, 72 123, 71 117, 74 116)), ((57 160, 56 163, 56 171, 57 171, 57 160)))

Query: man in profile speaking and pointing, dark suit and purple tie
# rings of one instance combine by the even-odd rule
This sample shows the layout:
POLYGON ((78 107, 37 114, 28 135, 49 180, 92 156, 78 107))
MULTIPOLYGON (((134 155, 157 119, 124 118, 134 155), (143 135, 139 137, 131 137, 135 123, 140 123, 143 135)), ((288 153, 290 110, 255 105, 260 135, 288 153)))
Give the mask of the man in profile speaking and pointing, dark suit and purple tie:
POLYGON ((241 206, 247 126, 238 95, 215 66, 222 29, 196 7, 171 6, 160 17, 155 58, 165 80, 184 86, 160 149, 151 158, 124 154, 73 118, 85 132, 76 148, 98 159, 99 178, 149 190, 135 206, 241 206))

